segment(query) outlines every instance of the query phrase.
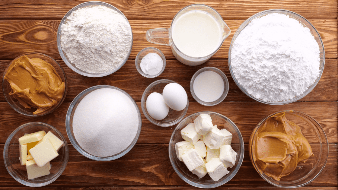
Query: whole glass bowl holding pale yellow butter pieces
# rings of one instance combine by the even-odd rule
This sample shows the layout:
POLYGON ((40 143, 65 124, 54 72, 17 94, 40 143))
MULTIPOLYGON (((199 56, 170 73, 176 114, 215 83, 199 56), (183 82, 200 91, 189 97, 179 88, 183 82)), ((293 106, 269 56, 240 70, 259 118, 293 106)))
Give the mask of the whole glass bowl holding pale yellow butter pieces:
POLYGON ((55 181, 65 170, 68 158, 69 149, 62 133, 41 122, 25 123, 16 128, 7 138, 3 150, 8 173, 29 187, 42 187, 55 181), (41 151, 53 157, 36 156, 42 155, 41 151), (41 167, 38 164, 42 164, 41 167))

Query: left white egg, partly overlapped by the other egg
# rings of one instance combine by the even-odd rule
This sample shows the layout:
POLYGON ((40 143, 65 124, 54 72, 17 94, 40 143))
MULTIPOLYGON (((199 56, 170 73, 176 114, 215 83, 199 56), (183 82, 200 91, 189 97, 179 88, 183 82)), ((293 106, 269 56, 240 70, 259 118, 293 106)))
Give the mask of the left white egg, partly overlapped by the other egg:
POLYGON ((146 108, 150 117, 156 120, 166 118, 169 113, 169 107, 164 102, 162 94, 157 92, 149 94, 146 100, 146 108))

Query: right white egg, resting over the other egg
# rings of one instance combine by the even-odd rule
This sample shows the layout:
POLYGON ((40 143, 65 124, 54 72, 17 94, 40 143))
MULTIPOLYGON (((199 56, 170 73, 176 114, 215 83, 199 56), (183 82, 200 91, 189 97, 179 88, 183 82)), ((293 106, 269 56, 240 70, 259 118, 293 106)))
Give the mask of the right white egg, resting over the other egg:
POLYGON ((169 108, 176 111, 183 110, 188 103, 186 91, 181 85, 177 83, 170 83, 164 87, 163 99, 169 108))

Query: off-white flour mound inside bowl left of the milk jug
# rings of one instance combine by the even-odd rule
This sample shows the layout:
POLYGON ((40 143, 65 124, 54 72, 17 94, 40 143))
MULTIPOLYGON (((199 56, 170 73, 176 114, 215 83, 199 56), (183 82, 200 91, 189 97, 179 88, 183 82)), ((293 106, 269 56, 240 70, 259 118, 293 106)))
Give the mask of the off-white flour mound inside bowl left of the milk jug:
POLYGON ((118 67, 131 44, 128 21, 105 6, 79 8, 61 26, 62 50, 75 67, 88 73, 106 73, 118 67))

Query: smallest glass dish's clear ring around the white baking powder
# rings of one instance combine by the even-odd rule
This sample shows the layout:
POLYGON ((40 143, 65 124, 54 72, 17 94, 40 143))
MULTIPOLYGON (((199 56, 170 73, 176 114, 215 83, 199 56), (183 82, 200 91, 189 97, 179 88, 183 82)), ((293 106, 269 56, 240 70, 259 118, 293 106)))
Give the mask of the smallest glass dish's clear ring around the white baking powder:
POLYGON ((136 69, 137 71, 144 77, 147 77, 147 78, 155 78, 156 76, 159 76, 160 74, 163 73, 165 67, 166 67, 166 57, 164 56, 164 54, 162 53, 161 50, 157 49, 157 48, 154 48, 154 47, 147 47, 147 48, 144 48, 142 49, 137 55, 136 55, 136 58, 135 58, 135 65, 136 65, 136 69), (160 55, 160 57, 162 58, 162 61, 163 61, 163 67, 162 67, 162 70, 155 74, 155 75, 149 75, 149 74, 146 74, 142 71, 141 69, 141 60, 144 56, 146 56, 148 53, 156 53, 158 55, 160 55))

